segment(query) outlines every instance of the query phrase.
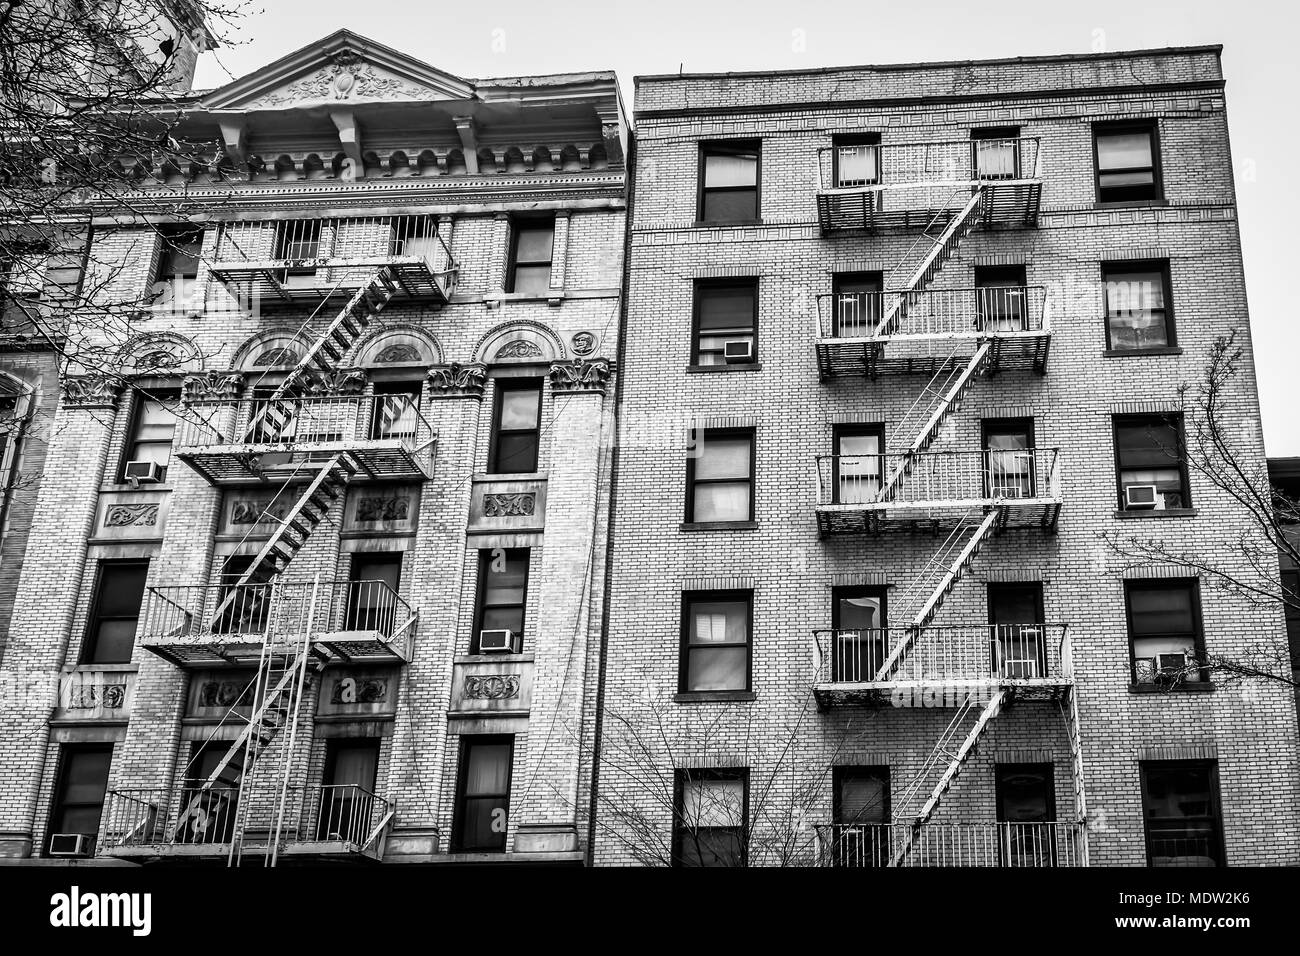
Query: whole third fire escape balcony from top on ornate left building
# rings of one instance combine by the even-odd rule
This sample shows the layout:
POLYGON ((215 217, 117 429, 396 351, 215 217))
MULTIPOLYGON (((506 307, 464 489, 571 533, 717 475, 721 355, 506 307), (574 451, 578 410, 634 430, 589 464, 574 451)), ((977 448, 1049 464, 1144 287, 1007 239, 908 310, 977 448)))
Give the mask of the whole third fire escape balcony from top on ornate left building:
POLYGON ((140 617, 140 646, 179 667, 256 667, 303 633, 321 665, 407 663, 419 624, 384 581, 160 585, 140 617))

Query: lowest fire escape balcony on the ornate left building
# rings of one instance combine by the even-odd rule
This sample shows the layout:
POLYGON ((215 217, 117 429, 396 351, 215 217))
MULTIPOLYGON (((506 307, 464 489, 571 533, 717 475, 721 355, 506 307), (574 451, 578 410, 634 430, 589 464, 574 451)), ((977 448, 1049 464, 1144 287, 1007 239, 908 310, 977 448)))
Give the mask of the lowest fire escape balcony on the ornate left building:
POLYGON ((134 860, 225 860, 235 830, 243 852, 272 840, 280 856, 311 860, 382 860, 396 805, 356 784, 289 787, 214 786, 183 780, 166 787, 110 790, 100 823, 100 856, 134 860), (243 806, 240 806, 243 801, 243 806), (278 825, 278 840, 276 835, 278 825))

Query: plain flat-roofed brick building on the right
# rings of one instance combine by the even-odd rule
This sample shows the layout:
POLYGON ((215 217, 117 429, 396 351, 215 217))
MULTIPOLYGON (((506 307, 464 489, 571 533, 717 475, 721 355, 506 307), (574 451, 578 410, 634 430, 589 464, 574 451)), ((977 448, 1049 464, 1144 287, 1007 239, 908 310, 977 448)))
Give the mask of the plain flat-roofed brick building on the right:
POLYGON ((1300 862, 1219 49, 636 88, 594 861, 1300 862))

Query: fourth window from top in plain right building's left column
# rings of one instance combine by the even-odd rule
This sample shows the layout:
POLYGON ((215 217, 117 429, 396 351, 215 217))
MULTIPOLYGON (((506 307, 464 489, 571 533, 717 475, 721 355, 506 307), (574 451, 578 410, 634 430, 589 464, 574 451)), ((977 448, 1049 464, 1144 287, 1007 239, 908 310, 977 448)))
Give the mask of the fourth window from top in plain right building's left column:
POLYGON ((694 591, 681 596, 679 689, 748 691, 754 593, 694 591))

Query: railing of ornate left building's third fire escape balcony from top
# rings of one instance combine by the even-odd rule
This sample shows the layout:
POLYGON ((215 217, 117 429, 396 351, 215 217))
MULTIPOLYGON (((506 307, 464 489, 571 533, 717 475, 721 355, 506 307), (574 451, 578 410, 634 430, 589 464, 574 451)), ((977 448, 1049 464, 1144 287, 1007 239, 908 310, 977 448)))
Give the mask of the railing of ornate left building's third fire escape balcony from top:
POLYGON ((264 636, 367 631, 410 659, 416 617, 389 584, 377 580, 172 584, 146 593, 140 639, 247 636, 260 643, 264 636))

